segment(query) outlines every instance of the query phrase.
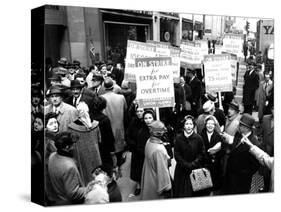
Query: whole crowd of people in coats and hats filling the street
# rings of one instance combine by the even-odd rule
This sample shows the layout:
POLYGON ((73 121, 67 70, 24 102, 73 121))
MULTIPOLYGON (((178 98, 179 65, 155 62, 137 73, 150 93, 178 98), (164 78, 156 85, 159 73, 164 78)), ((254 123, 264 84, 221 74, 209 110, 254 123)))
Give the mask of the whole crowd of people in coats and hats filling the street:
POLYGON ((273 191, 273 79, 247 61, 242 105, 233 92, 206 92, 201 70, 181 72, 175 105, 141 108, 122 64, 89 68, 75 60, 32 70, 32 199, 44 205, 121 202, 116 180, 126 152, 141 200, 249 193, 259 171, 273 191), (41 77, 41 78, 40 78, 41 77), (258 112, 256 122, 252 112, 258 112), (174 176, 171 160, 175 159, 174 176), (206 168, 213 186, 193 191, 189 175, 206 168), (43 194, 42 194, 42 191, 43 194))

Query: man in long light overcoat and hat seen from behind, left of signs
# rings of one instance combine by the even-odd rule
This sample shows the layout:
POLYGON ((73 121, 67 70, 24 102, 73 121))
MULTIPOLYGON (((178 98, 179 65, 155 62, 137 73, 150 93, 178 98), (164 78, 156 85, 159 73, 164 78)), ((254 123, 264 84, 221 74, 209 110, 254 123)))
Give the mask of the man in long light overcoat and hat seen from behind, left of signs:
POLYGON ((110 77, 106 77, 104 80, 105 94, 101 95, 106 99, 106 108, 104 114, 108 116, 115 138, 115 154, 117 157, 117 166, 120 167, 122 161, 122 153, 124 152, 125 132, 124 132, 124 120, 125 112, 127 110, 127 103, 125 97, 121 94, 113 92, 114 83, 110 77))

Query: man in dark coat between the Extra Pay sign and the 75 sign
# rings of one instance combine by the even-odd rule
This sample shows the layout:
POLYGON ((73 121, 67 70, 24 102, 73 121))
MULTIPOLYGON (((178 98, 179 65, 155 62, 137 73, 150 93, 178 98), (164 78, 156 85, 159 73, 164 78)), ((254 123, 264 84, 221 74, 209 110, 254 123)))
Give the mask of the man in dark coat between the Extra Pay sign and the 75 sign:
POLYGON ((189 77, 189 85, 191 87, 192 96, 190 98, 191 113, 194 117, 198 116, 198 110, 201 108, 201 90, 202 85, 200 80, 196 77, 194 69, 188 69, 187 76, 189 77))

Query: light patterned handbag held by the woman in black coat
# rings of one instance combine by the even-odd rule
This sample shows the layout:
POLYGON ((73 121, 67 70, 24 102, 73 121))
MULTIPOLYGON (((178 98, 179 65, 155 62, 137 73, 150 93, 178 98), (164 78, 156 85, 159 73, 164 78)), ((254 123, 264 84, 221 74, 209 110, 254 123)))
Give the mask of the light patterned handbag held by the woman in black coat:
POLYGON ((210 171, 206 168, 194 169, 189 175, 193 191, 213 187, 210 171))

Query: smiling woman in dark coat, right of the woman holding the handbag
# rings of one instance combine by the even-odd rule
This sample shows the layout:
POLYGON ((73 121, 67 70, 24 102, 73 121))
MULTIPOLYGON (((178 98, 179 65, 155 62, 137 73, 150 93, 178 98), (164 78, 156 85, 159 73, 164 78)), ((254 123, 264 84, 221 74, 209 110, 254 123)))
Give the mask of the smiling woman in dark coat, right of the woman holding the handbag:
POLYGON ((223 151, 221 150, 222 137, 215 130, 216 120, 213 116, 205 119, 205 128, 201 132, 201 137, 205 146, 205 167, 211 172, 213 181, 212 190, 217 193, 222 183, 221 160, 223 151))

